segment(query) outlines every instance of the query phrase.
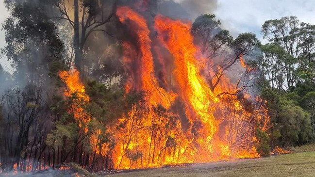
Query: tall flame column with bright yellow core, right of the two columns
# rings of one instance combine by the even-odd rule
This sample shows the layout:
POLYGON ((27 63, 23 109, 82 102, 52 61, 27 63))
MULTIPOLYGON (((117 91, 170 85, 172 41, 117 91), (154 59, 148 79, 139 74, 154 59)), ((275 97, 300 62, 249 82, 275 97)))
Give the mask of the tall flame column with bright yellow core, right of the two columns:
POLYGON ((181 97, 189 105, 188 117, 191 121, 200 119, 204 123, 207 132, 200 133, 205 133, 206 141, 211 141, 217 123, 209 108, 214 108, 211 104, 216 103, 218 98, 199 74, 198 61, 194 57, 197 49, 190 35, 190 24, 157 16, 155 28, 160 40, 175 58, 173 74, 176 76, 181 97), (165 33, 167 36, 163 36, 165 33))

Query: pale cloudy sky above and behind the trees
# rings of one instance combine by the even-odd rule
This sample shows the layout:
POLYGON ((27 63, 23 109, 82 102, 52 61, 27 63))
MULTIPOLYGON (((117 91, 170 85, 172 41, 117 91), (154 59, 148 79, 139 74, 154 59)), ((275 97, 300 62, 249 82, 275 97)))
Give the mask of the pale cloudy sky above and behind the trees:
MULTIPOLYGON (((175 0, 183 1, 183 0, 175 0)), ((206 4, 202 13, 214 13, 222 22, 223 28, 228 29, 234 37, 242 32, 254 32, 262 40, 261 26, 265 20, 277 19, 282 16, 297 16, 300 21, 315 24, 315 0, 191 0, 199 3, 212 2, 215 8, 206 4), (215 3, 214 3, 215 2, 215 3), (214 11, 214 12, 212 12, 214 11)), ((0 0, 0 23, 2 24, 9 13, 0 0)), ((4 32, 0 31, 0 48, 5 45, 4 32)), ((10 69, 9 62, 2 56, 0 64, 10 69)))

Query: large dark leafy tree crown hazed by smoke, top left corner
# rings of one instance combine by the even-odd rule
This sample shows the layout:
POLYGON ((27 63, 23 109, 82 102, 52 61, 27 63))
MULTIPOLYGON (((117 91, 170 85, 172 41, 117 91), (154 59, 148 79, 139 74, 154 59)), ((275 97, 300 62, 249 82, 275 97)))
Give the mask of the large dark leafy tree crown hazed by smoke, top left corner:
POLYGON ((15 78, 19 83, 49 83, 50 66, 64 61, 63 43, 45 12, 48 4, 12 0, 7 5, 11 16, 3 26, 7 45, 2 53, 16 68, 15 78))

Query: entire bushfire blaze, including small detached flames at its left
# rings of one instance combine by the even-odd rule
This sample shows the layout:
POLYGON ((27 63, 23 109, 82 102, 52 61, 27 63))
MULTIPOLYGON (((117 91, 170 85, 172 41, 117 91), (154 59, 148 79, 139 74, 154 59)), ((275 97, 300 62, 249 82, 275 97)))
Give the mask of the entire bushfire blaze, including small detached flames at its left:
MULTIPOLYGON (((259 157, 255 129, 257 124, 267 127, 264 102, 247 93, 221 94, 235 93, 234 83, 225 76, 215 89, 209 87, 201 74, 205 59, 194 44, 190 22, 157 15, 152 25, 127 6, 118 7, 116 16, 135 40, 122 42, 122 62, 129 76, 126 94, 133 90, 146 94, 144 103, 133 105, 108 125, 115 145, 99 146, 97 153, 110 152, 115 169, 259 157), (254 108, 242 100, 253 100, 254 108)), ((250 69, 242 57, 239 62, 250 69)), ((78 71, 63 71, 60 76, 68 88, 65 96, 78 93, 88 103, 78 71)), ((75 118, 93 119, 82 116, 82 107, 74 108, 75 118)), ((99 133, 91 136, 91 147, 98 146, 99 133)))

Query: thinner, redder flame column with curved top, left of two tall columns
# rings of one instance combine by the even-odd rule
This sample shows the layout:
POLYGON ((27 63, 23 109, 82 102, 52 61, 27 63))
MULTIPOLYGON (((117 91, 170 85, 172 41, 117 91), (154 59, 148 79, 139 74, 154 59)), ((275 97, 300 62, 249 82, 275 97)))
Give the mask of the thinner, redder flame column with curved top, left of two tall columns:
MULTIPOLYGON (((147 26, 147 21, 128 7, 118 8, 116 15, 123 23, 126 22, 127 19, 130 20, 131 25, 135 26, 136 28, 135 33, 139 37, 139 52, 142 54, 142 58, 139 61, 140 72, 137 74, 141 75, 141 82, 139 82, 140 85, 136 86, 136 89, 141 88, 147 91, 150 97, 150 104, 154 106, 161 104, 165 108, 169 108, 176 95, 172 93, 167 93, 163 88, 161 88, 154 76, 153 56, 151 53, 151 39, 149 38, 150 31, 147 26)), ((128 53, 128 55, 125 55, 124 61, 132 60, 130 59, 130 57, 134 57, 134 55, 131 54, 132 51, 130 51, 130 44, 124 43, 124 47, 125 53, 128 53)), ((130 87, 130 85, 128 86, 130 87)))

